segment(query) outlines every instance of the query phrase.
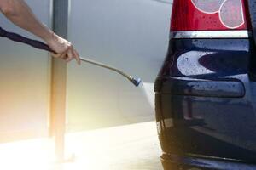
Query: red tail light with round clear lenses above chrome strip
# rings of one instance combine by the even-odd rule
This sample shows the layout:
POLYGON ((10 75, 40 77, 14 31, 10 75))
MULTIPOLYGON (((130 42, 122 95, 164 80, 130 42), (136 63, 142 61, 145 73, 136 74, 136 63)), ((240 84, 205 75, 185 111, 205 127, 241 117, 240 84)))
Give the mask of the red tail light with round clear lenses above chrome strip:
POLYGON ((247 30, 245 0, 174 0, 171 31, 247 30))

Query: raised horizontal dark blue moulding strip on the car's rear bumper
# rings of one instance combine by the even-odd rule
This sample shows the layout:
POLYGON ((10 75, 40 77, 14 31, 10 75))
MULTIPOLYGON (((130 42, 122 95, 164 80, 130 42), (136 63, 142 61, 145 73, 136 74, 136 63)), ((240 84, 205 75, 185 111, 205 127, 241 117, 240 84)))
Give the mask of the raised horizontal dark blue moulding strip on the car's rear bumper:
POLYGON ((155 91, 161 94, 218 98, 242 98, 245 95, 243 83, 234 78, 164 77, 155 84, 155 91))

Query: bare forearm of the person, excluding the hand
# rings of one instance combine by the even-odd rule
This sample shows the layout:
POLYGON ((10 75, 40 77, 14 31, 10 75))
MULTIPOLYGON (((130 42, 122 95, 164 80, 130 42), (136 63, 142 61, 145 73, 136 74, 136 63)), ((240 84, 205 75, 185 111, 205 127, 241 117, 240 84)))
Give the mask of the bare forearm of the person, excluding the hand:
POLYGON ((53 32, 44 26, 23 0, 0 0, 0 10, 15 25, 41 37, 48 42, 53 32))

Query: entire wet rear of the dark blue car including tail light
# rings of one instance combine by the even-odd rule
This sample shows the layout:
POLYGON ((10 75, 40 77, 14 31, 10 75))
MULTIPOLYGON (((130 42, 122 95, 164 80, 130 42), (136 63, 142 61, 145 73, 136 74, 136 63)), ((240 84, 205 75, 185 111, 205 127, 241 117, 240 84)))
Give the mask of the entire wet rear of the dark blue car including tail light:
POLYGON ((155 81, 165 169, 256 169, 256 53, 246 0, 174 0, 155 81))

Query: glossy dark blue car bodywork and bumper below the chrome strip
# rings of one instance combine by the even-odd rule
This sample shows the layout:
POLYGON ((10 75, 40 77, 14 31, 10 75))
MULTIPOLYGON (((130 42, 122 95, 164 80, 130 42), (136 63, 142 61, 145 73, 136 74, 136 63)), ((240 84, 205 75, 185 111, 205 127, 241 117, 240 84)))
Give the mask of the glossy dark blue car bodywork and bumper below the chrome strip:
MULTIPOLYGON (((170 41, 155 81, 164 162, 189 165, 169 157, 174 155, 256 164, 255 58, 253 39, 170 41)), ((241 169, 221 165, 197 167, 241 169)))

